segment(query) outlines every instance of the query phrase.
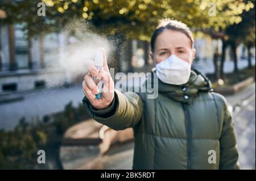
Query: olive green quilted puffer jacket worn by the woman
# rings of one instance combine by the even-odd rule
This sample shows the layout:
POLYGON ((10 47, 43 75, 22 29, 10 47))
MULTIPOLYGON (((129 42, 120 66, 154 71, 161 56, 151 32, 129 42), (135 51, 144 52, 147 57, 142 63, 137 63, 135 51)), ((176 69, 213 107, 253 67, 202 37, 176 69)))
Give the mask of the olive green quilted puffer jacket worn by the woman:
POLYGON ((158 92, 148 99, 147 92, 115 90, 103 110, 95 110, 86 97, 82 102, 99 123, 134 129, 133 169, 239 169, 232 117, 207 78, 192 70, 182 86, 159 80, 158 92))

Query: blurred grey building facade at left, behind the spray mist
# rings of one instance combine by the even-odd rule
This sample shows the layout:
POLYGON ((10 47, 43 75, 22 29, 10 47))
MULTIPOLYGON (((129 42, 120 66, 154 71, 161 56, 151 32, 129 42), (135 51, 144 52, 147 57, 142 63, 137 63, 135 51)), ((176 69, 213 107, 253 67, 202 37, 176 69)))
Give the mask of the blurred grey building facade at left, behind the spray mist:
POLYGON ((59 49, 56 33, 28 40, 24 24, 0 22, 0 94, 65 83, 64 70, 52 66, 59 49), (58 82, 53 83, 56 75, 58 82))

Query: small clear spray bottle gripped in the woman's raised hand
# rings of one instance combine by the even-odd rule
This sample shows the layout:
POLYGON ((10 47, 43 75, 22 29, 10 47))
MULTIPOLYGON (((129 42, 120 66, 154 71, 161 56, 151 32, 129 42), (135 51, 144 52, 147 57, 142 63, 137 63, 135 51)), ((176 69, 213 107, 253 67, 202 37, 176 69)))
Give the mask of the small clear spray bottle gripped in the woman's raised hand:
MULTIPOLYGON (((103 52, 101 49, 97 49, 97 51, 96 51, 94 65, 96 66, 98 73, 100 73, 100 70, 103 70, 103 52)), ((101 78, 99 75, 97 75, 97 77, 92 76, 92 79, 96 83, 98 90, 99 90, 99 93, 95 94, 95 96, 96 96, 95 99, 100 99, 102 96, 103 82, 101 81, 101 78)))

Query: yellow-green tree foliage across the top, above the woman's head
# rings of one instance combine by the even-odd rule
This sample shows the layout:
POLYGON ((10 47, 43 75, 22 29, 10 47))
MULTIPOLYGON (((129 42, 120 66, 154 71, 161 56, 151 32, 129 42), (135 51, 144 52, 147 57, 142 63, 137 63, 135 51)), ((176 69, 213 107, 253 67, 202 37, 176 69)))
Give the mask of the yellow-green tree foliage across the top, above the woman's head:
POLYGON ((26 22, 31 34, 57 30, 73 18, 91 22, 105 35, 123 33, 127 38, 149 40, 158 20, 173 18, 194 30, 225 28, 240 23, 243 11, 253 8, 251 1, 238 0, 42 0, 46 16, 37 16, 40 1, 5 1, 9 22, 26 22), (216 15, 209 15, 211 4, 216 15), (53 26, 54 25, 54 26, 53 26))

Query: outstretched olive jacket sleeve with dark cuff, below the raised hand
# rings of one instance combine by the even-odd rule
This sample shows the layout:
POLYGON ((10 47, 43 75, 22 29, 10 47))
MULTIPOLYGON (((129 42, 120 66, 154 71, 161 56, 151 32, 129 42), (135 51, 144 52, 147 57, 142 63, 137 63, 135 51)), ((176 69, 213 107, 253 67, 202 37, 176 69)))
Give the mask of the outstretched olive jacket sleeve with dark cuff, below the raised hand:
POLYGON ((112 104, 102 110, 95 110, 86 97, 82 99, 82 104, 90 117, 114 130, 135 127, 143 113, 142 98, 134 92, 122 93, 115 90, 112 104))

